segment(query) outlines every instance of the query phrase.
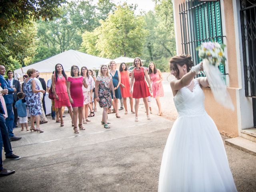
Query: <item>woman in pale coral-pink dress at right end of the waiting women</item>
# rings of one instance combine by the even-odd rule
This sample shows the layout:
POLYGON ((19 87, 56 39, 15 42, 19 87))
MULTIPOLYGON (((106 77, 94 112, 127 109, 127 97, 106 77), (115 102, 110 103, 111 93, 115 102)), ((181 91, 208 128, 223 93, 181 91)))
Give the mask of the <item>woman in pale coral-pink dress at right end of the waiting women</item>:
POLYGON ((158 106, 157 115, 162 115, 162 108, 160 103, 160 97, 164 96, 164 89, 162 85, 163 76, 159 69, 156 69, 154 62, 150 62, 148 66, 148 74, 150 77, 150 83, 152 83, 153 97, 156 99, 158 106))

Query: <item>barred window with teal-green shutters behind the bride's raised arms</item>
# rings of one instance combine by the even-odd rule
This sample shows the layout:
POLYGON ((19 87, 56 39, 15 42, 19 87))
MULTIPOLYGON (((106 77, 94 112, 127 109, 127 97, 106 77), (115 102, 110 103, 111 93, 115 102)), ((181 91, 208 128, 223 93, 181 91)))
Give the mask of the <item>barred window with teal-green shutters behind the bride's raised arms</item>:
MULTIPOLYGON (((196 48, 202 42, 223 43, 220 2, 188 0, 179 5, 182 52, 190 54, 194 64, 200 62, 196 48)), ((220 71, 226 75, 225 68, 220 71)))

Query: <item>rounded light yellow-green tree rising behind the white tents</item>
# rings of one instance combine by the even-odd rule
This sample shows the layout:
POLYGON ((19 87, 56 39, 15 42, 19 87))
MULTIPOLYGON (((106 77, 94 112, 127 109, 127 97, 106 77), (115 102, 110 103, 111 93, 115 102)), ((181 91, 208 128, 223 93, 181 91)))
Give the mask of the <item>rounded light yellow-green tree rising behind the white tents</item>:
POLYGON ((134 8, 124 4, 117 6, 101 26, 94 30, 98 34, 96 50, 99 56, 114 58, 119 56, 136 57, 142 55, 147 30, 142 16, 134 15, 134 8))

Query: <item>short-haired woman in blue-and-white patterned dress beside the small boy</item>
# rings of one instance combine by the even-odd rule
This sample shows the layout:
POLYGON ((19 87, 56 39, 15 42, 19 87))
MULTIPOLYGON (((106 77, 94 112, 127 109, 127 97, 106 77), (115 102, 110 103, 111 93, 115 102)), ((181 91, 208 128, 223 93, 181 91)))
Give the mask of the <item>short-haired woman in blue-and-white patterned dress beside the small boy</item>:
POLYGON ((43 94, 45 93, 45 90, 40 90, 39 85, 36 83, 34 78, 36 77, 36 70, 35 69, 29 69, 27 71, 28 78, 25 79, 25 86, 24 86, 24 92, 26 95, 26 104, 28 108, 28 112, 30 113, 30 122, 31 127, 30 131, 37 131, 40 133, 43 133, 42 130, 40 130, 40 117, 39 115, 42 114, 42 110, 40 107, 40 92, 43 94), (36 129, 34 127, 34 120, 36 119, 36 129))

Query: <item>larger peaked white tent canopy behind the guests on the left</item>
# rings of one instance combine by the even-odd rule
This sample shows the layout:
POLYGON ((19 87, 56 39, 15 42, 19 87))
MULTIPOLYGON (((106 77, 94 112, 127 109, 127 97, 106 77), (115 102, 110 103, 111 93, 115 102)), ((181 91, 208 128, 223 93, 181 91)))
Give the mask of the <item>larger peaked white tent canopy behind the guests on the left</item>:
MULTIPOLYGON (((22 69, 24 73, 30 68, 34 68, 40 73, 52 73, 52 71, 55 70, 55 65, 58 63, 62 64, 65 71, 70 71, 72 65, 77 65, 79 68, 86 66, 88 69, 96 69, 100 68, 101 64, 110 61, 111 60, 107 58, 101 58, 75 50, 68 50, 46 60, 23 67, 22 69)), ((21 68, 15 70, 14 74, 22 74, 21 68)))

